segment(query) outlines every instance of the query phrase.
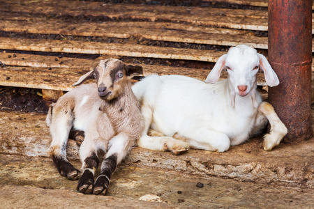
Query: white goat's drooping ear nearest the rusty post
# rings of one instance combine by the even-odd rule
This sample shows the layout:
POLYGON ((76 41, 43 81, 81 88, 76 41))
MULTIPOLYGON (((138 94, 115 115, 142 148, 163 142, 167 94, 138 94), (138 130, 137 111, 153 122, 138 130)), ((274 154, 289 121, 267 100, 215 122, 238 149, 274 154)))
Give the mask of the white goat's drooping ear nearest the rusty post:
POLYGON ((264 71, 264 77, 268 86, 278 86, 279 79, 276 75, 276 72, 271 68, 271 65, 267 61, 266 57, 262 54, 257 53, 258 58, 260 59, 260 67, 264 71))

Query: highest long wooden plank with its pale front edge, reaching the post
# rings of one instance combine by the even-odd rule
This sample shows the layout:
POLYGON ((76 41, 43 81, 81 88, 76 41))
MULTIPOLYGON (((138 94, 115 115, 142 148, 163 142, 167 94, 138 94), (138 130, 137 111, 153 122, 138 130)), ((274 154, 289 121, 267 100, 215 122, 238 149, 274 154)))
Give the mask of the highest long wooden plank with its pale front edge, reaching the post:
POLYGON ((82 1, 36 1, 32 3, 10 3, 0 11, 17 13, 40 13, 45 15, 86 15, 93 17, 162 20, 188 22, 232 29, 267 31, 267 12, 256 10, 230 10, 220 8, 144 6, 126 4, 104 4, 82 1))

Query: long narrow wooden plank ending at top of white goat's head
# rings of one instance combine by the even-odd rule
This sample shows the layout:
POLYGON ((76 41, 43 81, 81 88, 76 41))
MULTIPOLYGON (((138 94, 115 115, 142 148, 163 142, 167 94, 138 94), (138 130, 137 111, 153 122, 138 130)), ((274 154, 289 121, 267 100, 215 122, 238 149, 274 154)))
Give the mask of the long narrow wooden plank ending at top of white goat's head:
POLYGON ((74 40, 35 40, 27 38, 0 38, 0 49, 64 52, 80 54, 109 54, 113 56, 150 57, 216 62, 225 52, 214 50, 181 49, 146 45, 82 42, 74 40))

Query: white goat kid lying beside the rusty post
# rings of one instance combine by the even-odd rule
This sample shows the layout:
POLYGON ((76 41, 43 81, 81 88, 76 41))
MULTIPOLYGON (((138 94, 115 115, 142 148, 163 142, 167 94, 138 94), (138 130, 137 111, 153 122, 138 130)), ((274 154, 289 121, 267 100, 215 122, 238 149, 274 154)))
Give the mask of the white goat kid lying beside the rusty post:
POLYGON ((151 75, 132 89, 141 103, 145 128, 138 145, 184 153, 188 148, 224 152, 244 143, 267 125, 264 150, 277 146, 287 128, 257 91, 257 71, 269 86, 279 84, 269 62, 256 49, 232 47, 220 56, 205 82, 179 75, 151 75), (218 82, 227 69, 227 79, 218 82), (147 134, 149 128, 153 129, 147 134), (178 140, 179 139, 179 140, 178 140))

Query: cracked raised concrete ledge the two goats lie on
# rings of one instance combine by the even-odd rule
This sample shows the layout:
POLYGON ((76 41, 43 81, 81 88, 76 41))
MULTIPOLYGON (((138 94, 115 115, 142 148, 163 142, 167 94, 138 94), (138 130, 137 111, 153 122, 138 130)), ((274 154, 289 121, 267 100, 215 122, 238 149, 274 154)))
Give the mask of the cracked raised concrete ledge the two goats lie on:
MULTIPOLYGON (((50 134, 44 114, 0 112, 0 153, 47 157, 50 134)), ((79 147, 68 142, 68 158, 77 160, 79 147)), ((302 144, 284 144, 271 152, 262 149, 262 139, 231 147, 225 153, 189 150, 174 156, 134 148, 126 158, 130 166, 170 169, 189 175, 216 176, 267 185, 314 188, 314 138, 302 144)))

